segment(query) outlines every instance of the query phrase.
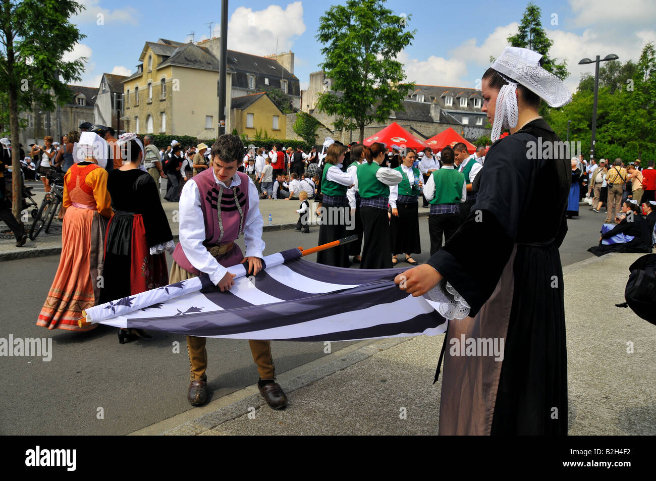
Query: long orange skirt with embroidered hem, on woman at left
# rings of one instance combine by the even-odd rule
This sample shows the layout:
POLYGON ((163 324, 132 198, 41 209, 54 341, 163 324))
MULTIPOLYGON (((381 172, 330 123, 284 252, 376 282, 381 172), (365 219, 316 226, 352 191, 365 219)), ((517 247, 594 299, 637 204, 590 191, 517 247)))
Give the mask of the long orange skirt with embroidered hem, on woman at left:
POLYGON ((62 255, 37 325, 69 331, 90 331, 98 326, 78 327, 77 320, 100 295, 107 222, 96 210, 73 205, 66 209, 62 255))

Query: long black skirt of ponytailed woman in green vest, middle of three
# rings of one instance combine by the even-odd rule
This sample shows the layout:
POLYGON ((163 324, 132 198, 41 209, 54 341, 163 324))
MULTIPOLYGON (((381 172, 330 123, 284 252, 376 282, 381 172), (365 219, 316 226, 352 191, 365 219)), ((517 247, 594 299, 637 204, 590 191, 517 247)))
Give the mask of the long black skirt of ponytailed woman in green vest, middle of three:
POLYGON ((390 245, 390 220, 385 209, 360 207, 364 229, 361 269, 391 269, 392 246, 390 245))

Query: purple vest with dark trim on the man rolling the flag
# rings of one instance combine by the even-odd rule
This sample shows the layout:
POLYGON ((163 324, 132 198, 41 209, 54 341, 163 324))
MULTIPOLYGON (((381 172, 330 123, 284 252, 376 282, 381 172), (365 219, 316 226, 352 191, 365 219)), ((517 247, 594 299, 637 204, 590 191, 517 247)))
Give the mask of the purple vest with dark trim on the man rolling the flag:
MULTIPOLYGON (((205 169, 203 172, 194 175, 190 180, 196 183, 201 195, 201 210, 205 222, 205 244, 207 245, 227 244, 239 238, 240 230, 243 233, 243 224, 246 222, 249 209, 248 189, 250 179, 241 172, 237 172, 237 175, 241 183, 231 188, 224 188, 216 183, 213 169, 205 169), (237 199, 238 205, 235 199, 237 199), (240 209, 241 216, 239 215, 240 209)), ((241 257, 241 249, 237 245, 235 247, 239 251, 239 257, 241 257)), ((233 257, 230 253, 230 251, 226 252, 226 257, 233 257)), ((192 266, 186 255, 184 255, 181 243, 175 246, 173 260, 184 270, 192 274, 200 274, 199 270, 192 266)), ((229 267, 237 264, 241 259, 236 259, 236 262, 226 261, 228 259, 222 259, 220 261, 221 265, 229 267)))

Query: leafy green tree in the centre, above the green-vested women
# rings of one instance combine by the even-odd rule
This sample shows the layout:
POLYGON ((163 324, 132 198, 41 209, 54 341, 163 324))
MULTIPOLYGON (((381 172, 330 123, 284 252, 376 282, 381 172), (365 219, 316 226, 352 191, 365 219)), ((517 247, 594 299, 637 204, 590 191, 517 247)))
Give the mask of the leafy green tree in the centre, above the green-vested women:
POLYGON ((414 38, 407 30, 408 16, 384 7, 384 0, 347 0, 333 5, 319 19, 316 38, 325 45, 320 65, 328 89, 319 94, 320 112, 335 115, 336 129, 359 129, 384 122, 392 110, 403 110, 413 83, 403 83, 403 65, 398 53, 414 38))

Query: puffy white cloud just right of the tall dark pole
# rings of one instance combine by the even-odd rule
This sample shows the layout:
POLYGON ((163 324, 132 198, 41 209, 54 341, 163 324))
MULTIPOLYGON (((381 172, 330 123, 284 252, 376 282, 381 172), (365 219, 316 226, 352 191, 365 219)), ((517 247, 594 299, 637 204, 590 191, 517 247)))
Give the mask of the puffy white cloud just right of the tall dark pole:
MULTIPOLYGON (((216 35, 220 29, 214 29, 216 35)), ((228 48, 256 55, 291 50, 293 41, 305 31, 303 6, 300 1, 290 3, 283 10, 279 5, 269 5, 264 10, 253 11, 237 7, 228 21, 228 48)))

